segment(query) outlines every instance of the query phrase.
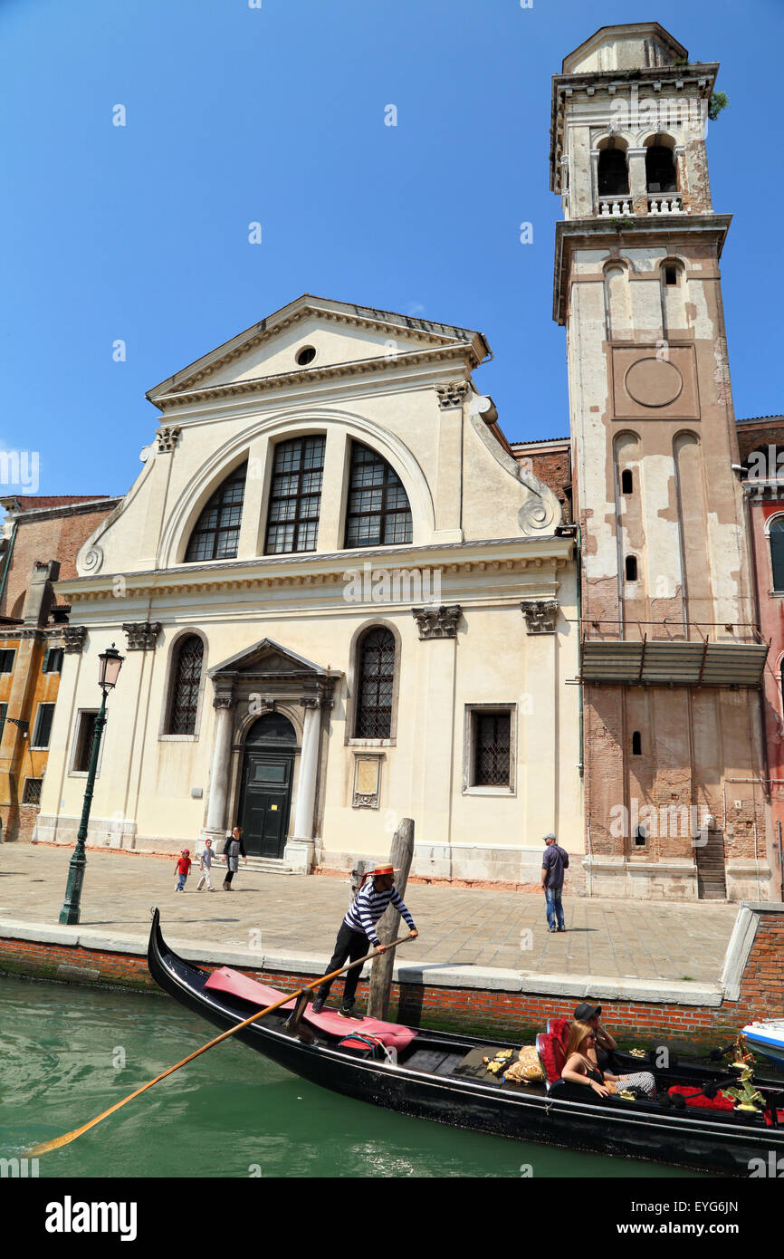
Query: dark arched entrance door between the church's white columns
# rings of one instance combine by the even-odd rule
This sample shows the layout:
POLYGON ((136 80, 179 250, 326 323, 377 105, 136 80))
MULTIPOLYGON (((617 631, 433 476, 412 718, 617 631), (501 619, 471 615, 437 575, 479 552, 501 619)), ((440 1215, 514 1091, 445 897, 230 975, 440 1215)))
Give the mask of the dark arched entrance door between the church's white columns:
POLYGON ((248 856, 283 856, 296 745, 294 728, 281 713, 260 716, 248 731, 239 811, 248 856))

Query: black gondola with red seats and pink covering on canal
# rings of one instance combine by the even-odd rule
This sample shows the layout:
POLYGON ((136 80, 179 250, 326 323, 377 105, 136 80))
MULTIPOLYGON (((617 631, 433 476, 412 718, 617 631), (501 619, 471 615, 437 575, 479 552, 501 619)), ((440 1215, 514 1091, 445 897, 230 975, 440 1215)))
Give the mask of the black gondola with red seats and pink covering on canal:
MULTIPOLYGON (((214 987, 215 978, 208 971, 167 947, 157 910, 147 962, 165 992, 221 1031, 247 1019, 254 1007, 262 1008, 269 996, 269 990, 259 986, 257 992, 254 981, 227 968, 215 978, 235 991, 214 987)), ((751 1113, 696 1105, 673 1109, 659 1100, 617 1095, 599 1098, 593 1090, 563 1080, 531 1085, 503 1080, 501 1073, 493 1076, 482 1060, 520 1045, 476 1036, 398 1027, 400 1035, 386 1037, 396 1041, 396 1053, 388 1049, 379 1059, 372 1056, 372 1037, 362 1041, 365 1025, 371 1029, 371 1022, 310 1016, 302 1012, 303 1002, 292 1001, 293 1011, 263 1016, 239 1031, 237 1039, 312 1084, 346 1097, 457 1128, 714 1175, 748 1177, 756 1166, 766 1166, 770 1152, 784 1156, 784 1079, 754 1080, 761 1102, 751 1113), (323 1030, 335 1024, 340 1026, 323 1030)), ((634 1070, 642 1065, 652 1070, 667 1102, 671 1085, 693 1089, 714 1081, 727 1087, 739 1078, 737 1069, 716 1064, 692 1061, 657 1070, 639 1059, 629 1061, 634 1070)))

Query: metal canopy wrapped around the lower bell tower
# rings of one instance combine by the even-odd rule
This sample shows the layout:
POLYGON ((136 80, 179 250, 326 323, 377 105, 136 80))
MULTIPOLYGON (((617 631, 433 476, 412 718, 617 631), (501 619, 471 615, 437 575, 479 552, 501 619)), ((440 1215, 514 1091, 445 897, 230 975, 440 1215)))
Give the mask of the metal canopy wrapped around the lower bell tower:
POLYGON ((768 643, 583 640, 584 682, 761 686, 768 643))

